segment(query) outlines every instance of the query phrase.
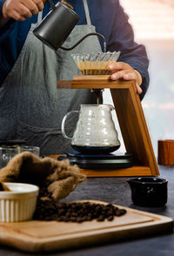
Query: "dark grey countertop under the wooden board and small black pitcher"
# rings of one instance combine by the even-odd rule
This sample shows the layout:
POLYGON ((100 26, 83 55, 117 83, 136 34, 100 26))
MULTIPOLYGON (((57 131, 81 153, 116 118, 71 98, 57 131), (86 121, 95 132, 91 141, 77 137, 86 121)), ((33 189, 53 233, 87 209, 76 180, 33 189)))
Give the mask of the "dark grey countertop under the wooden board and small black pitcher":
MULTIPOLYGON (((153 212, 174 219, 174 166, 159 166, 160 178, 168 180, 168 202, 163 207, 140 207, 131 202, 131 189, 126 180, 131 178, 91 178, 78 185, 74 192, 66 198, 67 201, 79 199, 94 199, 131 207, 137 210, 153 212)), ((0 256, 21 256, 30 253, 19 252, 16 249, 0 246, 0 256)), ((32 254, 33 255, 33 254, 32 254)), ((43 255, 43 254, 36 254, 43 255)), ((66 252, 47 253, 56 256, 173 256, 174 233, 156 235, 143 239, 131 239, 122 242, 112 242, 100 246, 78 248, 66 252)))

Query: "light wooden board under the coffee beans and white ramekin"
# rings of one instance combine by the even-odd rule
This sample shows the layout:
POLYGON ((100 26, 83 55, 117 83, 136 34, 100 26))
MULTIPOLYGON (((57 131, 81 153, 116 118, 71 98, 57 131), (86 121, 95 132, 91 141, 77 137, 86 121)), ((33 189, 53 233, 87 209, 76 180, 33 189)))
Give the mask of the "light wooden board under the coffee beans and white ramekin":
MULTIPOLYGON (((90 200, 92 203, 102 203, 90 200)), ((0 223, 0 243, 30 253, 60 251, 123 239, 140 238, 173 230, 173 220, 150 212, 127 210, 113 221, 83 223, 57 221, 24 221, 0 223)))

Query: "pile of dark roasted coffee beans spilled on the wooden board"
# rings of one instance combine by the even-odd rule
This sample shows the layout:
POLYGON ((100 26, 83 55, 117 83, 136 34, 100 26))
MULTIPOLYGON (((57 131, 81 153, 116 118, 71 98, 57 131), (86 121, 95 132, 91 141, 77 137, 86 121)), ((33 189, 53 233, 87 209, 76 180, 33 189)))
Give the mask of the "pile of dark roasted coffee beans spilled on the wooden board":
POLYGON ((122 216, 126 213, 125 209, 108 204, 96 204, 90 202, 60 203, 54 200, 37 200, 37 209, 34 219, 38 220, 57 220, 65 222, 112 221, 115 216, 122 216))

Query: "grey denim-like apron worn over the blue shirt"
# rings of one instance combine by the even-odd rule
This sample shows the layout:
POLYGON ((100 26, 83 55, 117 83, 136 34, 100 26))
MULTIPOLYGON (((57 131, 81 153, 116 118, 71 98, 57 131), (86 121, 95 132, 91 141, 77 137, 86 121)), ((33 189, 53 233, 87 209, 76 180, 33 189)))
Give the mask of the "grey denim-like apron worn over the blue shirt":
MULTIPOLYGON (((77 25, 64 47, 95 31, 88 4, 83 1, 87 24, 77 25)), ((37 22, 41 18, 39 13, 37 22)), ((0 87, 0 139, 25 139, 27 145, 39 146, 41 155, 59 154, 71 150, 61 132, 66 112, 78 110, 80 104, 97 104, 97 98, 88 89, 57 89, 57 80, 81 75, 70 54, 97 52, 101 47, 98 38, 92 36, 72 51, 55 52, 33 35, 35 27, 31 24, 17 62, 0 87)), ((72 134, 76 122, 74 117, 67 120, 67 134, 72 134)))

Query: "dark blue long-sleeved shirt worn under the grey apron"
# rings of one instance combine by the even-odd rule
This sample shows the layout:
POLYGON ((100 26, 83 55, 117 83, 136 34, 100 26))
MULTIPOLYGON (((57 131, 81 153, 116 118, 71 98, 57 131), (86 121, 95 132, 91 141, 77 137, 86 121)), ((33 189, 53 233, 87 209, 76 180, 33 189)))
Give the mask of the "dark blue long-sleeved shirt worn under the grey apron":
MULTIPOLYGON (((0 15, 2 15, 3 2, 4 0, 0 0, 0 15)), ((57 3, 55 0, 53 2, 57 3)), ((83 1, 69 0, 69 3, 80 17, 78 24, 86 24, 83 1)), ((131 64, 141 73, 143 93, 140 98, 144 98, 149 86, 149 61, 144 45, 134 42, 133 30, 128 22, 129 17, 124 13, 118 0, 88 0, 88 5, 91 23, 96 26, 97 32, 104 35, 107 51, 121 51, 118 61, 131 64)), ((50 4, 45 3, 43 16, 48 11, 50 4)), ((0 84, 15 64, 32 23, 37 23, 37 16, 27 18, 23 22, 10 19, 0 28, 0 84)), ((100 43, 103 47, 103 42, 100 43)))

